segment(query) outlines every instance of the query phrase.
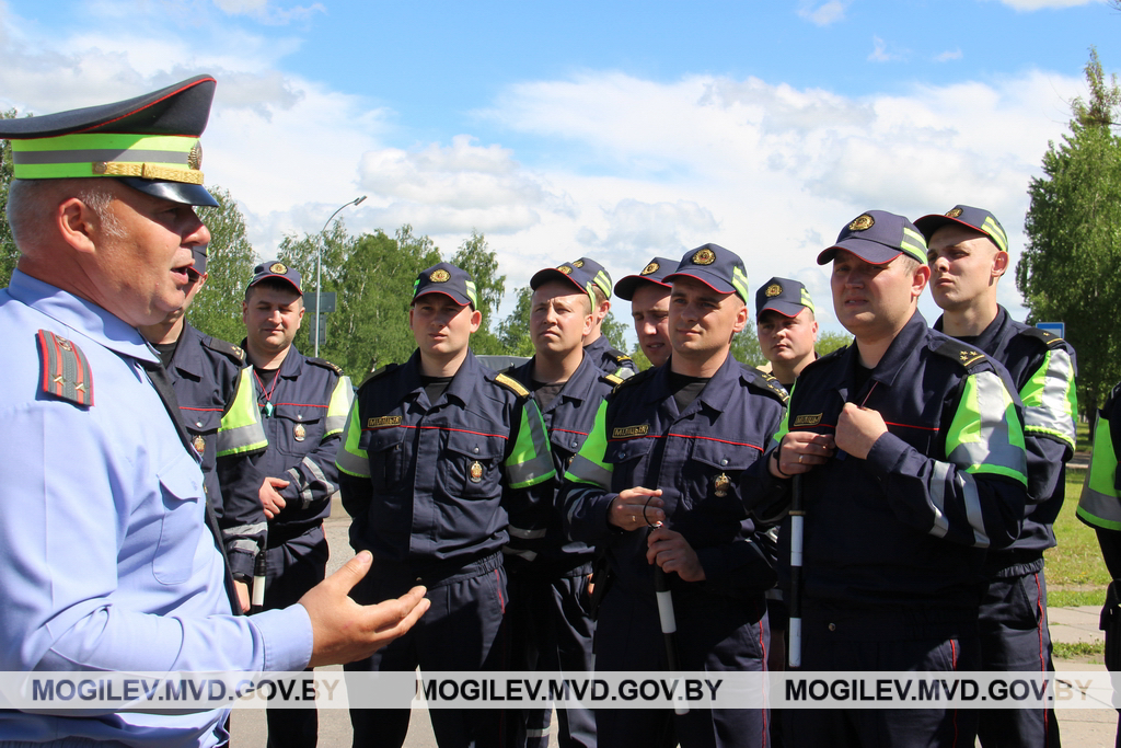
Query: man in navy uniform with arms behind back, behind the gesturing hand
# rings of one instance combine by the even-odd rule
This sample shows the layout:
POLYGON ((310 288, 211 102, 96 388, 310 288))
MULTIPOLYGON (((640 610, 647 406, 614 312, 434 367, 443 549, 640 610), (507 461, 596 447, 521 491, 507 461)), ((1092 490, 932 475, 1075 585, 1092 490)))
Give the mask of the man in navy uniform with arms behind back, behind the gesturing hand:
MULTIPOLYGON (((482 315, 475 284, 441 262, 417 277, 409 327, 417 350, 359 387, 339 451, 351 545, 374 555, 354 590, 372 600, 417 580, 432 590, 423 628, 348 671, 503 669, 508 525, 552 500, 556 477, 541 414, 525 387, 469 348, 482 315)), ((434 709, 441 746, 494 746, 501 712, 434 709)), ((400 746, 409 710, 351 709, 355 746, 400 746)))

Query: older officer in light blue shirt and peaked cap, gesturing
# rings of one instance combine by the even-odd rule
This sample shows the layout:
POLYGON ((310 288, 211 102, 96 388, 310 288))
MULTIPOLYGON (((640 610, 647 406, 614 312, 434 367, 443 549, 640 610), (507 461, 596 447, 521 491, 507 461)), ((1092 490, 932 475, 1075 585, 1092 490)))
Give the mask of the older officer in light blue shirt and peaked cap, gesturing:
MULTIPOLYGON (((103 107, 0 121, 13 140, 8 220, 20 252, 0 290, 0 672, 298 671, 368 655, 427 609, 348 591, 369 554, 305 595, 233 615, 192 438, 137 331, 182 307, 198 135, 214 79, 103 107)), ((213 520, 213 515, 210 514, 213 520)), ((132 704, 124 702, 122 707, 132 704)), ((0 711, 20 745, 217 746, 229 710, 0 711)))

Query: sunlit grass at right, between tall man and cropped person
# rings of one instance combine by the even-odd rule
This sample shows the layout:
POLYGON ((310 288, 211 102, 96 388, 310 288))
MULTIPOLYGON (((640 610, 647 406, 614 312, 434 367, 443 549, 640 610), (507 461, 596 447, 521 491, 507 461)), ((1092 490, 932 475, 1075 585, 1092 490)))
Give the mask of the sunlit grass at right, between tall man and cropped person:
MULTIPOLYGON (((1080 436, 1085 437, 1084 434, 1080 436)), ((1055 520, 1058 546, 1044 553, 1049 606, 1101 606, 1105 602, 1110 575, 1102 562, 1097 536, 1074 514, 1084 475, 1084 470, 1067 468, 1066 501, 1055 520)))

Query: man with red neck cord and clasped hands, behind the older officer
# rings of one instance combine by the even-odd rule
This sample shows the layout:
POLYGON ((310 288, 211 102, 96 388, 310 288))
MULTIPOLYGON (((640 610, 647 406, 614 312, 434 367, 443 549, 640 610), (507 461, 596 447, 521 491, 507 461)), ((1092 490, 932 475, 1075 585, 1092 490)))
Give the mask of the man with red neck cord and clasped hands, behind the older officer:
MULTIPOLYGON (((241 303, 242 347, 268 438, 253 459, 268 517, 266 610, 290 606, 326 574, 323 520, 339 491, 335 453, 354 391, 342 369, 293 345, 304 318, 299 284, 298 270, 266 260, 253 268, 241 303)), ((316 745, 315 709, 270 708, 267 718, 271 747, 316 745)))

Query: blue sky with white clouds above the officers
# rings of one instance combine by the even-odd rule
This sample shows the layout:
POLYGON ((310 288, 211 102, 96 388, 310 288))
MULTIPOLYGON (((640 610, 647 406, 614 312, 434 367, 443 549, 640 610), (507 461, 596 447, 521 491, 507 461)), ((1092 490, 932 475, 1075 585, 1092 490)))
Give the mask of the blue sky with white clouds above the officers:
MULTIPOLYGON (((0 0, 0 107, 210 72, 204 170, 262 256, 367 194, 352 231, 407 222, 450 255, 476 229, 508 288, 715 241, 753 286, 806 283, 832 327, 814 257, 863 210, 982 205, 1016 259, 1088 48, 1121 67, 1119 31, 1094 0, 0 0)), ((1012 277, 1001 298, 1022 315, 1012 277)))

